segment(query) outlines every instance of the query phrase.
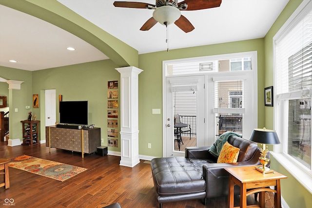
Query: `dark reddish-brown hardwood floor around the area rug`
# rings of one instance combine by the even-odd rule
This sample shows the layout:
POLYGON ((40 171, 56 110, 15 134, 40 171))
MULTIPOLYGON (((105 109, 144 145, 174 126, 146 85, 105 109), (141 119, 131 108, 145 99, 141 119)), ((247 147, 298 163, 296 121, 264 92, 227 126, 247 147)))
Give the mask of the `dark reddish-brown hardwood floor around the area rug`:
MULTIPOLYGON (((10 188, 0 188, 0 207, 5 199, 14 199, 15 208, 101 208, 119 202, 122 208, 158 208, 150 164, 141 161, 134 168, 119 166, 120 157, 85 154, 36 146, 8 147, 0 142, 0 158, 30 155, 75 165, 88 170, 60 182, 9 167, 10 188)), ((1 178, 2 180, 2 178, 1 178)), ((250 196, 249 196, 250 197, 250 196)), ((273 207, 273 196, 267 208, 273 207), (272 201, 272 202, 271 202, 272 201)), ((235 199, 235 204, 239 199, 235 199)), ((249 204, 254 200, 250 197, 249 204)), ((227 198, 164 203, 163 208, 225 208, 227 198)), ((11 206, 2 206, 11 207, 11 206)))

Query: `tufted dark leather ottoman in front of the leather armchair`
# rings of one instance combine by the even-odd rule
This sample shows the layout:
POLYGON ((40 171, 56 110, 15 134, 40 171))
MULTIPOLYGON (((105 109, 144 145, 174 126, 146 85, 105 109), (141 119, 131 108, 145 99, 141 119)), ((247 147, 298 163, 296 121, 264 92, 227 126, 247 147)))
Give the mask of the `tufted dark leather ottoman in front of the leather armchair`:
POLYGON ((154 158, 151 161, 151 169, 160 208, 164 202, 206 197, 202 166, 194 166, 187 158, 154 158))

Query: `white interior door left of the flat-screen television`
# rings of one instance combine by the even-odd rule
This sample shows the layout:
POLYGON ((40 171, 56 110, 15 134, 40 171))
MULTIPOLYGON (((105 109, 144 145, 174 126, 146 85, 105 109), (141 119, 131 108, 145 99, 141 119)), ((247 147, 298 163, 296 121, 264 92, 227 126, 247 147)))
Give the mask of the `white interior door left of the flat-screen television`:
POLYGON ((56 90, 45 91, 45 126, 54 126, 56 122, 56 90))

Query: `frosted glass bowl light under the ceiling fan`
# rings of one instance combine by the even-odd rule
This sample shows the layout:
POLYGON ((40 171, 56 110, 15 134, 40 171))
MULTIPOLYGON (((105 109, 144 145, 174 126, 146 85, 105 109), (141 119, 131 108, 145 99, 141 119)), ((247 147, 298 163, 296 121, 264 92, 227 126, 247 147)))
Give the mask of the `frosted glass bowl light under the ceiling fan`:
POLYGON ((181 16, 181 12, 174 6, 157 7, 153 12, 153 18, 162 25, 175 23, 181 16))

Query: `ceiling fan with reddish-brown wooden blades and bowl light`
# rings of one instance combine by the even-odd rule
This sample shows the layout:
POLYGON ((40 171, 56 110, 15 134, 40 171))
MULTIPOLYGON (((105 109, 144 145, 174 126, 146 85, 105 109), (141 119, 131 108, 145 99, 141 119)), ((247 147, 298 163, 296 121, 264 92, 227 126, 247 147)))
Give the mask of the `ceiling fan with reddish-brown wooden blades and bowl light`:
POLYGON ((151 29, 157 22, 166 25, 175 23, 185 33, 194 30, 192 23, 181 15, 180 10, 193 11, 219 7, 222 0, 156 0, 156 5, 134 1, 115 1, 114 6, 138 9, 155 9, 153 17, 148 19, 140 30, 151 29))

